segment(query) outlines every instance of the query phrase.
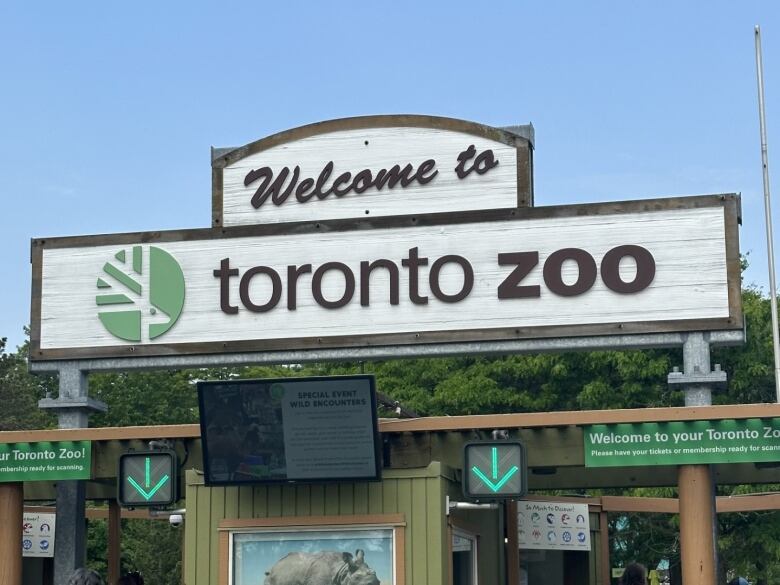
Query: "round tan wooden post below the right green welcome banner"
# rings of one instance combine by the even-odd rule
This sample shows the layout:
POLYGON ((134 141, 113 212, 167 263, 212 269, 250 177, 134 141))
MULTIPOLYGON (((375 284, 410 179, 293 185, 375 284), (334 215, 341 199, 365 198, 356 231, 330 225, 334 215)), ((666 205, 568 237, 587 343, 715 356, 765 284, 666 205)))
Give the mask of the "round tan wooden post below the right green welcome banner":
POLYGON ((681 465, 680 557, 685 585, 715 585, 715 508, 708 465, 681 465))

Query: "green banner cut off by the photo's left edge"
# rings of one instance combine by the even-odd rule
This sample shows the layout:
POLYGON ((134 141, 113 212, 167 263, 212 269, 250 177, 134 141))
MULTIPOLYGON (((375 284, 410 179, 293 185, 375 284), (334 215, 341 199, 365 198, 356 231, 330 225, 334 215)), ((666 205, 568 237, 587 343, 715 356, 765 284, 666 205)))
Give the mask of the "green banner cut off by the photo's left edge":
POLYGON ((0 444, 0 482, 89 479, 89 441, 0 444))

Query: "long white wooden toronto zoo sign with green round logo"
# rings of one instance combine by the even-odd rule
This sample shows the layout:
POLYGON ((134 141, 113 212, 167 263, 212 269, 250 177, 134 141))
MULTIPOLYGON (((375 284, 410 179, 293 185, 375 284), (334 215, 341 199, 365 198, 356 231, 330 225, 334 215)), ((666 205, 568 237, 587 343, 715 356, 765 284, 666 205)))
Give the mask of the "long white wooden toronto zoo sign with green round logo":
POLYGON ((497 213, 34 242, 32 357, 741 327, 733 197, 497 213))

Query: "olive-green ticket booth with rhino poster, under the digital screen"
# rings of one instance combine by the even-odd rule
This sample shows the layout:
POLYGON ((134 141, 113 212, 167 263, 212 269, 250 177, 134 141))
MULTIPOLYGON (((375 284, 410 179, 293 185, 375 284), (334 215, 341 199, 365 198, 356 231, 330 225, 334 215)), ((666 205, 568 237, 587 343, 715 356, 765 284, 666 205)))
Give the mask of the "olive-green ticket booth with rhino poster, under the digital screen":
MULTIPOLYGON (((461 556, 460 540, 451 552, 454 534, 466 532, 453 533, 448 523, 445 495, 454 472, 438 462, 387 470, 381 482, 207 487, 195 471, 186 481, 188 585, 286 585, 302 571, 327 574, 327 583, 348 583, 347 571, 365 574, 358 582, 366 584, 447 583, 450 555, 476 565, 473 556, 461 556)), ((487 536, 496 520, 474 518, 472 525, 487 536)), ((497 539, 486 541, 482 554, 497 561, 497 539)))

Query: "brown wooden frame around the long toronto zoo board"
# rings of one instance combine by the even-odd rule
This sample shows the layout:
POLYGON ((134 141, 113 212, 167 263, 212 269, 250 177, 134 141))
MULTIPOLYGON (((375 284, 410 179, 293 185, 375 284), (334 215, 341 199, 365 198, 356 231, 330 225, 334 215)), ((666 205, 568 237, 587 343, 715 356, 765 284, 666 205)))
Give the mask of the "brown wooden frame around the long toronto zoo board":
MULTIPOLYGON (((481 342, 532 338, 566 338, 580 336, 610 336, 626 334, 653 334, 680 331, 739 330, 743 328, 741 305, 740 256, 738 243, 739 196, 710 195, 656 200, 638 200, 617 203, 568 205, 517 210, 490 210, 456 214, 430 214, 365 220, 339 220, 247 226, 234 229, 199 229, 163 232, 143 232, 77 236, 32 241, 32 304, 30 359, 62 360, 135 356, 174 356, 193 354, 226 354, 269 350, 321 350, 323 348, 357 348, 376 346, 409 346, 418 344, 446 344, 450 342, 481 342), (563 325, 549 327, 505 327, 476 330, 415 331, 413 329, 378 335, 318 336, 288 339, 203 341, 191 343, 117 344, 97 347, 41 347, 41 292, 44 250, 83 248, 101 245, 154 244, 191 240, 225 240, 247 236, 278 234, 334 234, 384 228, 412 228, 419 226, 449 226, 470 222, 510 221, 524 222, 539 218, 577 218, 597 215, 694 208, 720 208, 724 213, 725 262, 728 287, 728 315, 723 318, 657 320, 637 322, 609 322, 591 325, 563 325)), ((518 226, 519 227, 519 226, 518 226)), ((218 307, 217 307, 218 310, 218 307)))

